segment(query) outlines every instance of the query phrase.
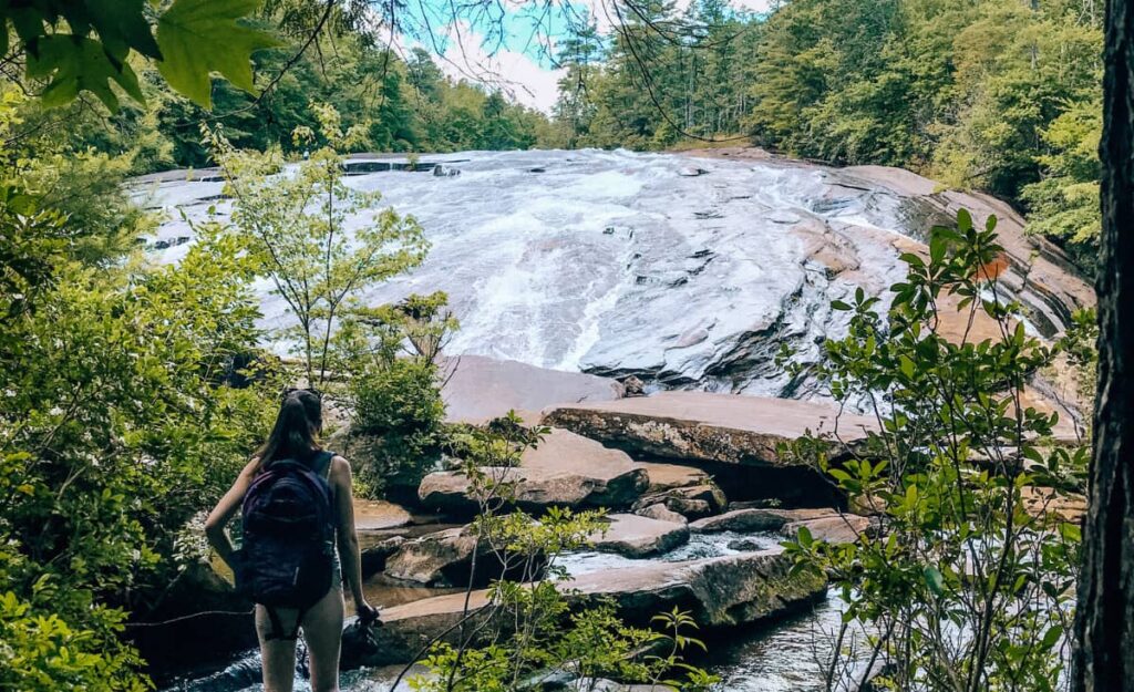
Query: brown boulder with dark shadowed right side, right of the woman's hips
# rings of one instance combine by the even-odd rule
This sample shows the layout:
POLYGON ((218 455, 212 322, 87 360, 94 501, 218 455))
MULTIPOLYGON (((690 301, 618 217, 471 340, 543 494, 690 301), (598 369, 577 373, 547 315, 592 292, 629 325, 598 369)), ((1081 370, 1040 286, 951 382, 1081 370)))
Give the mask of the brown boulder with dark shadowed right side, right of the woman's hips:
POLYGON ((479 539, 469 526, 457 526, 403 542, 386 560, 386 576, 424 586, 484 586, 509 574, 488 541, 479 539), (476 572, 473 573, 473 551, 476 572))

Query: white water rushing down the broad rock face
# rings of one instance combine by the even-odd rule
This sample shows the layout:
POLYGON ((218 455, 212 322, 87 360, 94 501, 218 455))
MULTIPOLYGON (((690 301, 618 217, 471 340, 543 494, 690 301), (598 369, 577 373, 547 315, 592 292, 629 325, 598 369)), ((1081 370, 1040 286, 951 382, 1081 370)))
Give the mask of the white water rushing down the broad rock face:
MULTIPOLYGON (((445 290, 462 323, 452 354, 666 386, 811 395, 773 366, 779 344, 814 356, 816 340, 844 327, 830 301, 857 286, 883 292, 904 273, 894 236, 920 230, 908 228, 914 202, 814 167, 626 151, 426 160, 460 174, 348 178, 415 216, 432 243, 422 267, 373 288, 369 303, 445 290)), ((183 212, 227 213, 221 187, 136 188, 167 211, 156 261, 187 251, 183 212)), ((264 324, 288 323, 282 301, 259 288, 264 324)))

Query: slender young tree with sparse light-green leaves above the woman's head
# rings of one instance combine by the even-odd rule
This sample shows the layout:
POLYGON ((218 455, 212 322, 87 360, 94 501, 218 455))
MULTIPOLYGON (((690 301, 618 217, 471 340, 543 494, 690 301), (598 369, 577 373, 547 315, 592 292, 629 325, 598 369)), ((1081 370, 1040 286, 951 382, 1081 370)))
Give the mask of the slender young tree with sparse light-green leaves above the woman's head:
POLYGON ((213 155, 234 197, 231 233, 251 240, 257 272, 271 278, 297 324, 285 330, 304 360, 307 381, 321 385, 333 357, 337 321, 375 284, 420 264, 429 244, 413 217, 392 209, 371 211, 379 193, 347 187, 341 149, 362 126, 342 129, 338 111, 313 106, 316 135, 299 129, 299 141, 322 141, 294 171, 280 174, 278 153, 237 151, 209 132, 213 155), (357 217, 361 223, 352 223, 357 217))

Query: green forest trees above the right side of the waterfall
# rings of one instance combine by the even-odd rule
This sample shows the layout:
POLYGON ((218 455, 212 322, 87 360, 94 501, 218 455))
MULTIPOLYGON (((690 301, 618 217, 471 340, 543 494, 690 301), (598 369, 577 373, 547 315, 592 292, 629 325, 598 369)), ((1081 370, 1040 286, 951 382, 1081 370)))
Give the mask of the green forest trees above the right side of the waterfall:
POLYGON ((1097 0, 617 3, 562 42, 568 146, 754 143, 886 164, 1013 202, 1092 271, 1099 234, 1097 0))

